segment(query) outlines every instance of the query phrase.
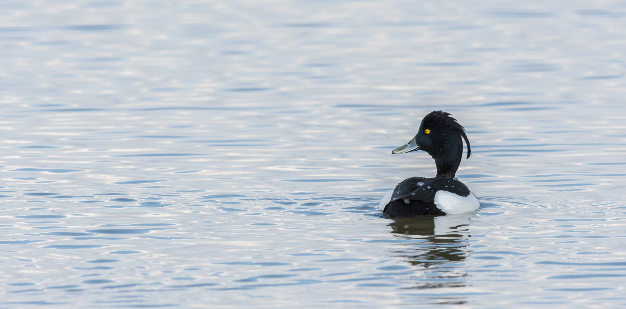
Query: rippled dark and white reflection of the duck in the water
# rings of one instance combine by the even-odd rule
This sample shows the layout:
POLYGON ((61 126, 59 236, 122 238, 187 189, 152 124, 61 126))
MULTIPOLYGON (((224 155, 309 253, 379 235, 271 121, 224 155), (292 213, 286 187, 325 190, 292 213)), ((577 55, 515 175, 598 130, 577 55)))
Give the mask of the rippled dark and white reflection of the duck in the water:
MULTIPOLYGON (((473 213, 468 213, 391 219, 389 233, 393 233, 399 239, 416 241, 399 244, 394 248, 393 254, 406 258, 411 265, 423 268, 421 275, 412 278, 417 284, 409 289, 454 288, 467 285, 469 275, 458 262, 467 257, 470 235, 467 235, 464 226, 469 225, 473 216, 475 216, 473 213)), ((464 297, 456 296, 444 301, 446 304, 464 302, 464 297)))

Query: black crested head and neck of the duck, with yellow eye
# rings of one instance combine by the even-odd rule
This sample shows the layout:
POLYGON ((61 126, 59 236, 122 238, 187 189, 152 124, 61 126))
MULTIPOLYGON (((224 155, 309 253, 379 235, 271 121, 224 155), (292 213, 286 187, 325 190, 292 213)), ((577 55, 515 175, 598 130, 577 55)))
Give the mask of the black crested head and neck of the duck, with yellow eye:
POLYGON ((468 137, 461 124, 443 111, 427 114, 419 124, 418 134, 408 143, 393 149, 391 153, 402 154, 423 150, 430 154, 437 166, 436 177, 454 177, 463 157, 463 140, 471 155, 468 137))

